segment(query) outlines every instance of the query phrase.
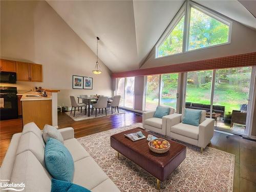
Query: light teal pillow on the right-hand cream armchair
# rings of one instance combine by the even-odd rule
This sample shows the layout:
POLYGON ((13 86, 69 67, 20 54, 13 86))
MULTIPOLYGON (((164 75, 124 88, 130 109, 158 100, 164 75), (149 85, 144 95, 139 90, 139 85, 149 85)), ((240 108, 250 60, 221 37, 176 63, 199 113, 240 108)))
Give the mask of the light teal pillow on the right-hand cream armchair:
POLYGON ((198 126, 201 118, 201 113, 202 110, 185 109, 182 123, 198 126))

